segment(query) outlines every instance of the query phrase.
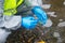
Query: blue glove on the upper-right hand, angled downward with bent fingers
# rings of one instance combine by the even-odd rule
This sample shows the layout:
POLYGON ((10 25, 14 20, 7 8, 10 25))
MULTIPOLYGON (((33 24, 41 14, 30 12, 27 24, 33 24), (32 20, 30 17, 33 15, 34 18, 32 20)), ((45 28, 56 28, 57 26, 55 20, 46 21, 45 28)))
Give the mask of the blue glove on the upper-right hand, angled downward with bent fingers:
POLYGON ((31 12, 38 17, 42 25, 47 23, 47 13, 40 6, 34 6, 31 12))

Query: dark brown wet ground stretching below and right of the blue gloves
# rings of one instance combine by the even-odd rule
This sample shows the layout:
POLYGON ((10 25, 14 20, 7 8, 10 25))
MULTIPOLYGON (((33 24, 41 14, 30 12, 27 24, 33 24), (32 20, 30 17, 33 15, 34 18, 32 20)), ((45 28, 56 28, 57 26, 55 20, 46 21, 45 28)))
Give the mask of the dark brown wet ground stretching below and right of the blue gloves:
MULTIPOLYGON (((22 28, 13 31, 13 33, 8 38, 6 43, 34 43, 35 41, 40 40, 44 40, 47 43, 57 43, 57 39, 53 37, 54 32, 58 32, 61 35, 60 38, 62 39, 61 43, 65 43, 65 26, 58 27, 60 23, 65 22, 65 5, 63 4, 64 1, 65 0, 43 0, 43 3, 51 4, 51 8, 46 11, 55 12, 56 17, 48 15, 52 22, 52 25, 49 28, 43 28, 40 26, 34 30, 25 30, 22 28), (28 42, 31 37, 34 37, 34 39, 28 42)), ((49 24, 47 24, 47 26, 49 24)))

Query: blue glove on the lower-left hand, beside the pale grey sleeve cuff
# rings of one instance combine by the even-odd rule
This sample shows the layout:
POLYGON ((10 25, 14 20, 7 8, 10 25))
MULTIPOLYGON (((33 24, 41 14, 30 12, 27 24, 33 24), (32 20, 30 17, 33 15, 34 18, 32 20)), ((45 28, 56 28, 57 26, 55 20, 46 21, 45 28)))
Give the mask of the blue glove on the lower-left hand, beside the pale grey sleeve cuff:
POLYGON ((22 26, 26 29, 34 29, 37 26, 38 20, 32 16, 22 18, 22 26))

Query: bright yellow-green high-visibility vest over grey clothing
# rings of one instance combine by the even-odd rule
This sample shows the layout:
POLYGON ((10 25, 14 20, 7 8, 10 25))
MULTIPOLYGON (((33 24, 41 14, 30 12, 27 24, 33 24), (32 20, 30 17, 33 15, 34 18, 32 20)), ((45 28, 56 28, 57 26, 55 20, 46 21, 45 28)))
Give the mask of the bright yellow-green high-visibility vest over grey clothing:
POLYGON ((4 13, 3 15, 14 15, 16 14, 16 8, 23 3, 24 0, 4 0, 3 6, 4 6, 4 13))

